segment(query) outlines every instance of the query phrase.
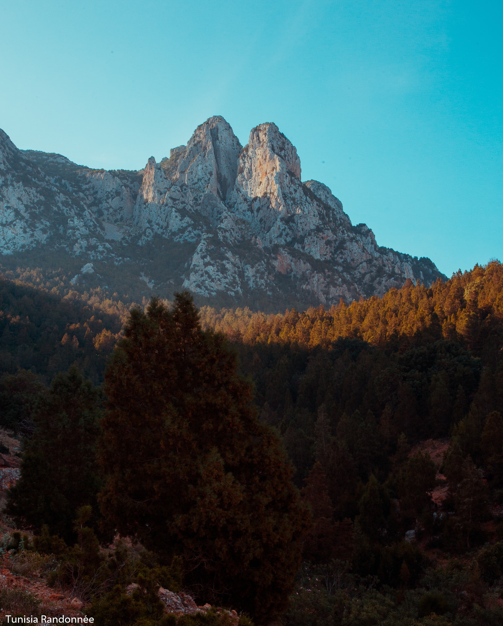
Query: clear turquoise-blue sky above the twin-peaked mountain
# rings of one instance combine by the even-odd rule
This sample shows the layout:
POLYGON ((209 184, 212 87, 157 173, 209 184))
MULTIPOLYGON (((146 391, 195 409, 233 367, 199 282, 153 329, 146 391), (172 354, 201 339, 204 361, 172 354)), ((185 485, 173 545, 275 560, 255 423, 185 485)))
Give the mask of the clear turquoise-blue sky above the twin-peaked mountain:
POLYGON ((503 260, 500 1, 0 0, 0 128, 142 168, 223 115, 450 275, 503 260))

